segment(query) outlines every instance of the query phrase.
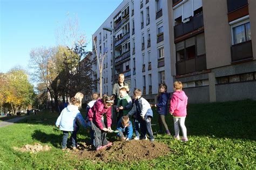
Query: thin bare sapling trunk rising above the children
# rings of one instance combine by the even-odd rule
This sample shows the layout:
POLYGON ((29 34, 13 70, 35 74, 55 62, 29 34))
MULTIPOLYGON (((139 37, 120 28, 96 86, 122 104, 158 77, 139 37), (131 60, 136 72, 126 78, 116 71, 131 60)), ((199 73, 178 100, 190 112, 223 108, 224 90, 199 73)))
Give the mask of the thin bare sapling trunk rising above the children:
POLYGON ((95 43, 95 38, 93 38, 93 44, 95 46, 95 53, 96 53, 96 57, 97 57, 97 63, 99 66, 99 96, 100 98, 102 98, 102 70, 103 70, 103 62, 106 56, 106 51, 104 49, 104 55, 102 55, 101 52, 99 52, 99 56, 98 56, 98 52, 97 52, 97 47, 96 47, 96 43, 95 43))

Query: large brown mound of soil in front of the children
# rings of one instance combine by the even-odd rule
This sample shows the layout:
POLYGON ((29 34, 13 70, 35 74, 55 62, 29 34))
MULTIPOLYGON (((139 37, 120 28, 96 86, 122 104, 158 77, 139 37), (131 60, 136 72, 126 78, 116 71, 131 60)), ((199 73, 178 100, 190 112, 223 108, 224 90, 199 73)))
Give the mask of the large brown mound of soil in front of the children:
POLYGON ((104 161, 139 161, 150 160, 170 153, 165 144, 150 142, 148 140, 115 141, 112 146, 102 151, 92 151, 84 145, 84 151, 76 152, 80 159, 90 159, 93 162, 104 161))

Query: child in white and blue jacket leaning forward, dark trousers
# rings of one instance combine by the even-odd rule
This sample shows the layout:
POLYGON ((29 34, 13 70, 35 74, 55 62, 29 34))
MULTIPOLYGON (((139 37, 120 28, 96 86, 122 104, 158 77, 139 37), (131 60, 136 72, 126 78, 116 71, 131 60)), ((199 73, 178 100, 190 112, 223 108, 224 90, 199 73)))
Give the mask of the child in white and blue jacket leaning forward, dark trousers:
POLYGON ((154 136, 151 128, 151 119, 153 118, 153 111, 149 102, 142 97, 142 91, 136 89, 133 92, 134 104, 132 110, 128 113, 129 117, 135 114, 136 119, 140 125, 140 139, 146 139, 146 132, 149 134, 150 141, 154 141, 154 136))

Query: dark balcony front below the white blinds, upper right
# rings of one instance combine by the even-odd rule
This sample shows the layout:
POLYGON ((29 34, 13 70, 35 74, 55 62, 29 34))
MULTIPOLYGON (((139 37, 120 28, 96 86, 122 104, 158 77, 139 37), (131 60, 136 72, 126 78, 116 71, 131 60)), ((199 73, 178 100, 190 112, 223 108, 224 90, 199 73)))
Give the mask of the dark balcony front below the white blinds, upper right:
POLYGON ((196 16, 190 17, 186 23, 180 23, 174 26, 174 38, 185 35, 204 26, 203 12, 196 16))

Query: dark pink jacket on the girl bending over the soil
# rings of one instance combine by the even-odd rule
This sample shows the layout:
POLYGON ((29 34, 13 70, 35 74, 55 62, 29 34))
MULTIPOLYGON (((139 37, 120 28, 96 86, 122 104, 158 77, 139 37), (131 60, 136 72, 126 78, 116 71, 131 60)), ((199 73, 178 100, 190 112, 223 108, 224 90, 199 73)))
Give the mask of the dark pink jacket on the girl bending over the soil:
POLYGON ((96 121, 97 126, 102 130, 104 127, 102 125, 103 114, 106 114, 107 127, 111 127, 111 107, 105 108, 102 99, 99 99, 90 108, 88 112, 89 121, 96 121))

